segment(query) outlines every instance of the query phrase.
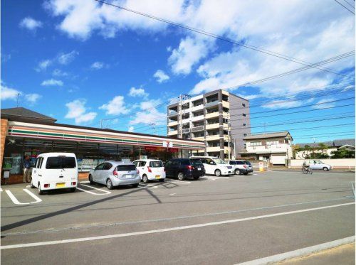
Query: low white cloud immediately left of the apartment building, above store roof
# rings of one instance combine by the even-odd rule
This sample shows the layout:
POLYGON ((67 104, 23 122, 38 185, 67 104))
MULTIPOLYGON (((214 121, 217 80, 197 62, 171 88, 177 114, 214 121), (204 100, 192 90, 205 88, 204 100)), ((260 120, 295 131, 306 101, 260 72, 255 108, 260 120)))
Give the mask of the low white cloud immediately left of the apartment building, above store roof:
POLYGON ((151 124, 155 122, 156 125, 164 124, 164 118, 167 116, 165 112, 159 112, 157 104, 160 104, 159 99, 151 99, 140 103, 141 111, 135 114, 135 117, 129 124, 151 124))

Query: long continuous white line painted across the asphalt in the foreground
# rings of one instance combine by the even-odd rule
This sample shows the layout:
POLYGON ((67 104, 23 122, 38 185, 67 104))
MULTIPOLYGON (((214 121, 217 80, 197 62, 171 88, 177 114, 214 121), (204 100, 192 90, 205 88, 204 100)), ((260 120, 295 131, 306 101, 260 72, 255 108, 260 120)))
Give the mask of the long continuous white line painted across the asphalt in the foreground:
POLYGON ((46 245, 53 245, 53 244, 67 244, 67 243, 74 243, 74 242, 85 242, 85 241, 93 241, 93 240, 100 240, 100 239, 112 239, 112 238, 117 238, 117 237, 132 237, 132 236, 138 236, 142 234, 157 234, 157 233, 162 233, 162 232, 170 232, 170 231, 177 231, 177 230, 184 230, 184 229, 193 229, 193 228, 199 228, 199 227, 209 227, 209 226, 214 226, 214 225, 224 225, 224 224, 230 224, 230 223, 235 223, 235 222, 244 222, 244 221, 249 221, 249 220, 258 220, 258 219, 263 219, 263 218, 268 218, 268 217, 277 217, 277 216, 282 216, 282 215, 292 215, 300 212, 311 212, 315 210, 323 210, 323 209, 329 209, 329 208, 334 208, 334 207, 342 207, 346 205, 355 205, 355 202, 348 202, 348 203, 342 203, 338 205, 329 205, 329 206, 323 206, 323 207, 315 207, 315 208, 309 208, 309 209, 304 209, 304 210, 295 210, 295 211, 289 211, 289 212, 278 212, 275 214, 270 214, 270 215, 259 215, 259 216, 254 216, 254 217, 246 217, 246 218, 239 218, 239 219, 232 219, 232 220, 225 220, 225 221, 219 221, 219 222, 206 222, 202 224, 197 224, 197 225, 186 225, 182 227, 169 227, 169 228, 163 228, 163 229, 155 229, 155 230, 147 230, 147 231, 141 231, 141 232, 130 232, 130 233, 123 233, 123 234, 108 234, 105 236, 97 236, 97 237, 80 237, 80 238, 74 238, 74 239, 63 239, 63 240, 54 240, 54 241, 45 241, 45 242, 33 242, 33 243, 25 243, 25 244, 12 244, 12 245, 3 245, 0 247, 0 249, 18 249, 18 248, 23 248, 23 247, 39 247, 39 246, 46 246, 46 245))

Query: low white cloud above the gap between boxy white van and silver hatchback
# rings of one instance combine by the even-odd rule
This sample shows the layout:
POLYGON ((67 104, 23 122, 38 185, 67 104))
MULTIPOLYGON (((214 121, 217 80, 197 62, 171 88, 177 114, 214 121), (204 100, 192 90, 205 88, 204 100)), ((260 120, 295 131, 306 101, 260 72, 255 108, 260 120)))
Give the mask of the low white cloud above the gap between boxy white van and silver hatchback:
POLYGON ((85 99, 75 99, 73 102, 68 102, 66 104, 66 107, 68 108, 66 119, 74 119, 75 124, 82 124, 93 121, 93 119, 95 119, 97 116, 97 113, 87 112, 85 103, 85 99))

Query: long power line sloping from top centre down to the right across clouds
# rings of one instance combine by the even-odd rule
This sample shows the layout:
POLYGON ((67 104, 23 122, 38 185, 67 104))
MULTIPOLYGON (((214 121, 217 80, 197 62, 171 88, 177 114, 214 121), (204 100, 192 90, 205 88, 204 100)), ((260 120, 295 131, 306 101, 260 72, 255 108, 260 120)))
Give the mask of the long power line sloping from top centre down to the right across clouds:
POLYGON ((299 63, 300 65, 306 65, 306 66, 317 68, 319 70, 323 70, 325 72, 332 72, 335 75, 340 75, 339 73, 335 72, 334 70, 329 70, 329 69, 324 68, 324 67, 318 67, 318 66, 310 64, 310 63, 308 63, 306 61, 303 61, 303 60, 300 60, 300 59, 297 59, 297 58, 292 58, 290 56, 283 55, 281 53, 275 53, 275 52, 273 52, 271 50, 262 49, 262 48, 259 48, 257 46, 253 46, 253 45, 247 45, 246 43, 239 43, 236 40, 232 40, 231 38, 224 38, 223 36, 219 36, 219 35, 216 35, 214 33, 209 33, 207 31, 202 31, 202 30, 199 30, 197 28, 192 28, 191 26, 186 26, 186 25, 183 25, 183 24, 180 24, 180 23, 175 23, 173 21, 169 21, 169 20, 164 19, 164 18, 159 18, 157 16, 152 16, 152 15, 147 14, 147 13, 142 13, 140 11, 135 11, 133 9, 127 9, 127 8, 125 8, 123 6, 118 6, 118 5, 115 5, 115 4, 112 4, 112 3, 108 3, 106 1, 102 1, 102 0, 95 0, 95 1, 98 1, 98 2, 100 2, 102 4, 106 4, 108 6, 116 7, 117 9, 122 9, 122 10, 125 10, 125 11, 128 11, 128 12, 131 12, 131 13, 136 13, 137 15, 140 15, 140 16, 145 16, 147 18, 152 18, 152 19, 167 23, 167 24, 172 25, 172 26, 177 26, 179 28, 184 28, 186 30, 193 31, 195 33, 200 33, 200 34, 203 34, 205 36, 210 36, 212 38, 216 38, 218 40, 223 40, 223 41, 225 41, 227 43, 231 43, 231 44, 234 44, 234 45, 239 45, 239 46, 242 46, 244 48, 251 49, 251 50, 256 50, 259 53, 265 53, 267 55, 271 55, 271 56, 274 56, 274 57, 277 57, 277 58, 281 58, 283 60, 288 60, 288 61, 291 61, 291 62, 294 62, 294 63, 299 63))

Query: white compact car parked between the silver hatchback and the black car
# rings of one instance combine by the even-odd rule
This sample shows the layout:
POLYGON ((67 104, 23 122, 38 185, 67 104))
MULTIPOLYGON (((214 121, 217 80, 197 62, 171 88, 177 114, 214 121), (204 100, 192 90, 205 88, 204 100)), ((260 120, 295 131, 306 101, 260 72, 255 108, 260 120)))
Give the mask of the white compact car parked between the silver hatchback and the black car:
POLYGON ((148 183, 150 180, 159 180, 163 182, 166 178, 163 162, 157 159, 140 159, 133 161, 139 171, 141 180, 148 183))

